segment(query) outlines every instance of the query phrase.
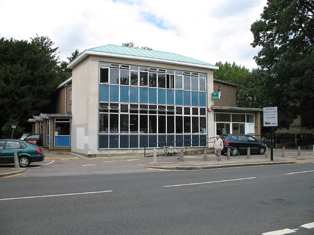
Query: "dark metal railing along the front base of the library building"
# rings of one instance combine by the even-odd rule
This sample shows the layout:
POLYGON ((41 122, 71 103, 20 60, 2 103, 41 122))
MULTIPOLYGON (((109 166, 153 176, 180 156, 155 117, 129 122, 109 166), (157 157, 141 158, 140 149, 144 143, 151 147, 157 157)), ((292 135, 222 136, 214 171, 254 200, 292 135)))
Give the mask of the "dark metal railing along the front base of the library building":
POLYGON ((154 148, 160 148, 162 146, 170 146, 170 145, 172 145, 172 146, 176 146, 176 147, 179 147, 179 148, 183 147, 183 148, 185 148, 185 152, 187 152, 187 148, 188 147, 204 147, 204 148, 206 148, 209 143, 213 143, 213 141, 209 141, 209 139, 215 139, 215 137, 207 137, 207 138, 199 138, 199 139, 189 139, 189 140, 180 140, 180 141, 166 141, 166 142, 157 142, 157 143, 146 143, 144 145, 144 157, 146 157, 146 148, 154 149, 154 148), (177 142, 179 142, 179 144, 176 144, 177 142), (182 143, 182 144, 180 144, 180 143, 182 143), (149 145, 154 145, 155 147, 148 147, 149 145))

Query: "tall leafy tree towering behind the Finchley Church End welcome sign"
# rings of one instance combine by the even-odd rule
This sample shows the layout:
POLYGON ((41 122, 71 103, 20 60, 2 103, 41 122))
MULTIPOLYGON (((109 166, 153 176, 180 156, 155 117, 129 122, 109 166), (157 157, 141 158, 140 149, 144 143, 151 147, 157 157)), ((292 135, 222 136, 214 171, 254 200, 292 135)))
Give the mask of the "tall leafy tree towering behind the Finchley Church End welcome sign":
POLYGON ((268 0, 261 20, 251 25, 261 67, 265 105, 278 107, 279 126, 297 116, 314 127, 314 2, 268 0))

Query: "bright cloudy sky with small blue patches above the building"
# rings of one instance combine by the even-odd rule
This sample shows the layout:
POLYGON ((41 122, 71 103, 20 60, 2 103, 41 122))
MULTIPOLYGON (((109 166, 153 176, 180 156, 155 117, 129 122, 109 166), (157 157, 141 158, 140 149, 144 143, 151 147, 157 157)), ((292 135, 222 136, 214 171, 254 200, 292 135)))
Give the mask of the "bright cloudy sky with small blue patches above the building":
POLYGON ((257 68, 251 24, 267 0, 0 0, 0 38, 48 36, 60 59, 108 44, 257 68))

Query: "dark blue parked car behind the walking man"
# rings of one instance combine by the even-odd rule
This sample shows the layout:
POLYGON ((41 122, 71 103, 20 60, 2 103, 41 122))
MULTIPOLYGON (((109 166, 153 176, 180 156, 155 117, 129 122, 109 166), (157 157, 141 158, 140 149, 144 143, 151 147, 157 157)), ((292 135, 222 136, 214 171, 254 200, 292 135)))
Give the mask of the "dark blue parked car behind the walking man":
POLYGON ((222 134, 220 138, 224 142, 224 148, 221 151, 226 153, 228 148, 231 148, 232 154, 235 156, 238 153, 247 153, 247 148, 250 147, 251 153, 264 154, 266 144, 262 143, 254 136, 244 134, 222 134))

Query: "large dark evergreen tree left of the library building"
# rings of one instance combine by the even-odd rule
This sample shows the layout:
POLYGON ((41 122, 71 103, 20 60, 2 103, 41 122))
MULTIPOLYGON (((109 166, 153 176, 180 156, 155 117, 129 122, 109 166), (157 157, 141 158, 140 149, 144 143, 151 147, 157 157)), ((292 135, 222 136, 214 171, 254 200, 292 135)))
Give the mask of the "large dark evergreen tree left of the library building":
POLYGON ((10 119, 26 127, 28 118, 51 112, 59 84, 52 45, 47 37, 0 39, 0 130, 10 119))

